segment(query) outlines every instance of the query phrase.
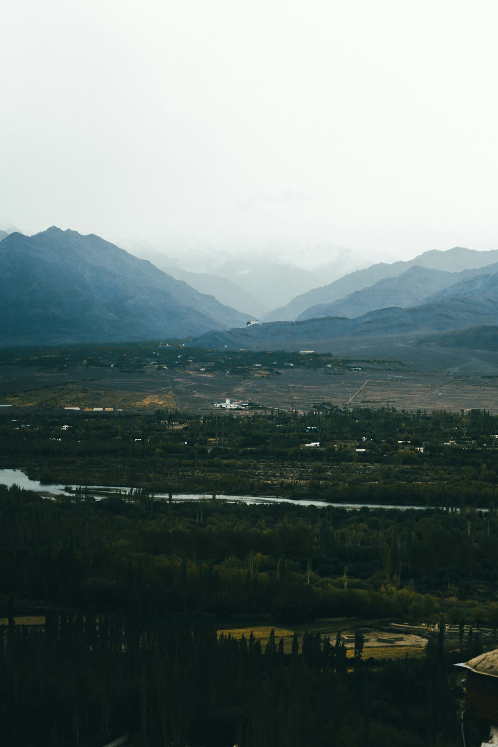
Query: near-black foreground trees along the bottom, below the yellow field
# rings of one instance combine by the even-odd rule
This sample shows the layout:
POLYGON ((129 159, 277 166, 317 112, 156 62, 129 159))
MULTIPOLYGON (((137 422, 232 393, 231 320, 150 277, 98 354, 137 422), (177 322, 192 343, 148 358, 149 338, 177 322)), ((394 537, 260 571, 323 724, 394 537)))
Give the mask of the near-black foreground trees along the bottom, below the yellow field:
POLYGON ((6 744, 143 747, 450 747, 458 689, 438 642, 423 660, 346 659, 339 636, 217 637, 169 619, 49 613, 0 627, 6 744))

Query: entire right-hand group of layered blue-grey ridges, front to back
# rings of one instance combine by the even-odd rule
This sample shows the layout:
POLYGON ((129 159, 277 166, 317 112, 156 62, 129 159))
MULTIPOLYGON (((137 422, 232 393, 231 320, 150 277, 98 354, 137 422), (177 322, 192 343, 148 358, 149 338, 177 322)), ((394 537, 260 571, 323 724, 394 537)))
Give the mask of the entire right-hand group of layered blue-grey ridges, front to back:
POLYGON ((304 306, 295 321, 210 332, 193 344, 317 350, 393 358, 425 370, 495 372, 497 259, 496 250, 455 247, 424 252, 411 261, 379 263, 296 297, 284 313, 277 309, 264 317, 295 314, 304 306), (334 296, 332 303, 308 306, 317 297, 334 296))

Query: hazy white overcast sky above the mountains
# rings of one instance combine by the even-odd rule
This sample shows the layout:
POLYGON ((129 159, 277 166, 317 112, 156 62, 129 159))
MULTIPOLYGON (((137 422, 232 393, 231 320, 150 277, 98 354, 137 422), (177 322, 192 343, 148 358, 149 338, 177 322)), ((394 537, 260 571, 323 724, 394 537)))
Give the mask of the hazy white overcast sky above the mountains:
POLYGON ((10 0, 0 227, 498 248, 498 6, 10 0))

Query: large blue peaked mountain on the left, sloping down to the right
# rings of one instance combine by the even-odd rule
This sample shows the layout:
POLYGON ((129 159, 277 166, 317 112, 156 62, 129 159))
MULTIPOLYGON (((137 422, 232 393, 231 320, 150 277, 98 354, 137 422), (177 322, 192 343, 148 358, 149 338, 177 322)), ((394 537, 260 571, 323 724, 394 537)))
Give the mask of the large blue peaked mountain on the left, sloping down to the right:
POLYGON ((99 236, 55 226, 0 242, 0 344, 199 335, 247 314, 99 236))

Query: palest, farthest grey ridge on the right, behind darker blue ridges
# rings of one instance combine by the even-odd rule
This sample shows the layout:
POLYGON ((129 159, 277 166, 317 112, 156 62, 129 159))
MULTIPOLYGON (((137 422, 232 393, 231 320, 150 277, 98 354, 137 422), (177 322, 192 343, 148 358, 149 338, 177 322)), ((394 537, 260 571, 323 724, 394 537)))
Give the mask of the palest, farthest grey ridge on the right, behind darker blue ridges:
POLYGON ((274 309, 270 311, 270 314, 265 314, 262 320, 295 320, 311 307, 334 303, 355 291, 370 288, 383 279, 398 277, 415 266, 454 273, 485 267, 496 262, 498 262, 498 249, 491 249, 488 252, 479 252, 464 247, 454 247, 446 252, 431 249, 408 261, 397 261, 393 264, 380 262, 364 270, 355 270, 355 272, 344 275, 329 285, 323 285, 321 288, 314 288, 308 293, 296 296, 287 306, 274 309))

